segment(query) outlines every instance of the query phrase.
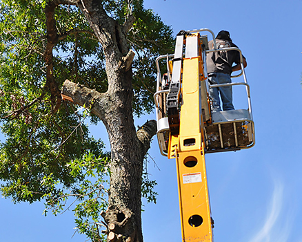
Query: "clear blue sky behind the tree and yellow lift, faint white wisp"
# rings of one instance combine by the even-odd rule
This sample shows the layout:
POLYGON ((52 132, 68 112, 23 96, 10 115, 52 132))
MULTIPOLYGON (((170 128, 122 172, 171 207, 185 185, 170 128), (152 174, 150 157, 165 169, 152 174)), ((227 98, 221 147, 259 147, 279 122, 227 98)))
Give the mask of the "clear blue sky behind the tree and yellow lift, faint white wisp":
MULTIPOLYGON (((148 0, 145 7, 175 34, 229 30, 248 61, 256 145, 205 156, 214 241, 302 242, 302 1, 148 0)), ((136 125, 147 118, 154 114, 136 125)), ((97 133, 106 138, 101 124, 92 127, 97 133)), ((160 155, 156 138, 150 156, 160 169, 150 159, 159 196, 157 205, 145 204, 144 239, 181 241, 175 161, 160 155)), ((78 234, 72 238, 72 212, 44 217, 43 209, 41 203, 13 205, 0 198, 1 241, 85 241, 78 234)))

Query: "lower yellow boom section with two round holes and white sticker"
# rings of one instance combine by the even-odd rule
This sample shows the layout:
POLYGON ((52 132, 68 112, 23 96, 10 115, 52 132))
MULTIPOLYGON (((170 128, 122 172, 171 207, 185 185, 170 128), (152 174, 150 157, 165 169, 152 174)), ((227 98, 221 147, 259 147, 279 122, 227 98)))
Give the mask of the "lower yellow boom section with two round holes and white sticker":
POLYGON ((184 242, 212 242, 208 182, 203 150, 180 152, 177 158, 179 205, 184 242))

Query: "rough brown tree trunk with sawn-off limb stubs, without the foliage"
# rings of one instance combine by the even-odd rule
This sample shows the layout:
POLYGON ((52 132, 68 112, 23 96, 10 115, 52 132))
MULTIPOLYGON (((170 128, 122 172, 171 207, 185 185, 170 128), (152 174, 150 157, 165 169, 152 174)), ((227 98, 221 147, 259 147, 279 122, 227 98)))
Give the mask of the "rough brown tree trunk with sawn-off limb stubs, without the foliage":
POLYGON ((154 120, 139 131, 132 115, 132 60, 126 33, 134 21, 128 16, 123 26, 109 17, 99 0, 78 1, 105 55, 108 91, 99 93, 66 80, 62 97, 89 108, 101 118, 111 146, 109 207, 105 213, 108 241, 142 242, 141 176, 143 158, 157 131, 154 120))

